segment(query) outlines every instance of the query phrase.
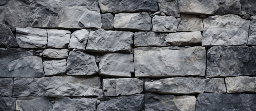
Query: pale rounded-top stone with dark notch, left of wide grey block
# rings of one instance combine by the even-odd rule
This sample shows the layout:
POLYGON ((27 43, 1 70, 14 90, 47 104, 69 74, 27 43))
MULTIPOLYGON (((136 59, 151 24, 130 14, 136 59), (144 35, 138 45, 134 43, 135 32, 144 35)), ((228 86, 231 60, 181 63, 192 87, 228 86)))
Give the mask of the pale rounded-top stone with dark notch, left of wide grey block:
POLYGON ((85 46, 89 37, 89 31, 86 29, 74 31, 69 41, 69 49, 85 50, 85 46))

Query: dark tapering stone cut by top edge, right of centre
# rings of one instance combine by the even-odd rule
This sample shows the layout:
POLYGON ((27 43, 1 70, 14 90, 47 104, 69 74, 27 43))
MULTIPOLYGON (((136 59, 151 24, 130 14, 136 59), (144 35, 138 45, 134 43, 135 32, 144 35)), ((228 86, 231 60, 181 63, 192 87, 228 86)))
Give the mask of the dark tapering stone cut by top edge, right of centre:
POLYGON ((177 0, 158 0, 159 10, 166 15, 180 17, 180 9, 177 0))

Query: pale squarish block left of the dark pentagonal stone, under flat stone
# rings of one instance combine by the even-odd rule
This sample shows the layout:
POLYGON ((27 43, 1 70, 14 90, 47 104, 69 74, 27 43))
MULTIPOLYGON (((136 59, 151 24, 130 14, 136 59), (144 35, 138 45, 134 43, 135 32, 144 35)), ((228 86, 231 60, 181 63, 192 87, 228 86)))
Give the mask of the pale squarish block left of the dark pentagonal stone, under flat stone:
POLYGON ((43 70, 45 75, 65 74, 66 59, 45 61, 43 62, 43 70))

